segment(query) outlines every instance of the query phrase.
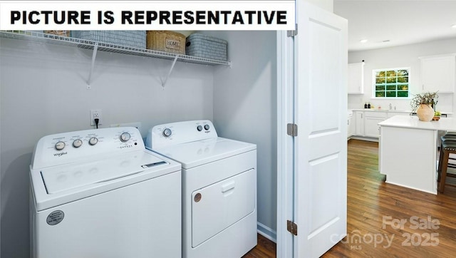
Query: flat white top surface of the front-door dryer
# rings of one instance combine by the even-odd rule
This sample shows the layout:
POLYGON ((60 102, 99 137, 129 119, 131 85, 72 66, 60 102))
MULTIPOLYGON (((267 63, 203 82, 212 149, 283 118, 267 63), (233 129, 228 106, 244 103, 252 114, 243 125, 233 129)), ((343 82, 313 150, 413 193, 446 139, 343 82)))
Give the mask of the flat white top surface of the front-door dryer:
POLYGON ((255 150, 257 145, 225 138, 198 140, 191 143, 170 145, 153 151, 182 163, 182 168, 191 168, 240 153, 255 150))

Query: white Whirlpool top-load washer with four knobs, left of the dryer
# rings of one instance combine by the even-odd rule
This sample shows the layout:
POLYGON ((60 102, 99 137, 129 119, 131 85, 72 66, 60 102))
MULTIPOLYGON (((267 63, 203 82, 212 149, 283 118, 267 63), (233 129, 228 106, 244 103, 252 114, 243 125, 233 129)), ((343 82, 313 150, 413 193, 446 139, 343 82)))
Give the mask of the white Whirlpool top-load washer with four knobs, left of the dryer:
POLYGON ((41 138, 31 162, 31 257, 181 257, 178 162, 136 128, 41 138))

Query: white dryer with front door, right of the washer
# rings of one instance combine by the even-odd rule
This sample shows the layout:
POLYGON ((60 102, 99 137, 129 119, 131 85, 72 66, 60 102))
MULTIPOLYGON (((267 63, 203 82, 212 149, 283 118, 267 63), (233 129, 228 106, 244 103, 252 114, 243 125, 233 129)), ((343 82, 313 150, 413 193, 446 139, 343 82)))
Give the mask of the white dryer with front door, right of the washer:
POLYGON ((257 245, 256 145, 196 120, 156 125, 146 148, 182 164, 183 257, 237 258, 257 245))

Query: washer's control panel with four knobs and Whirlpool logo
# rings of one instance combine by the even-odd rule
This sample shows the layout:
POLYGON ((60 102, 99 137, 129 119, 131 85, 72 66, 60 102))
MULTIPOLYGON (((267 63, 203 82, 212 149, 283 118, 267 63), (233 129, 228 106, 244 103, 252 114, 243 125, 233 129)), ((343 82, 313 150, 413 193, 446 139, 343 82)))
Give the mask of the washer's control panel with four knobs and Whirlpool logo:
POLYGON ((103 155, 144 150, 138 128, 100 128, 47 135, 38 140, 31 168, 61 165, 103 155))

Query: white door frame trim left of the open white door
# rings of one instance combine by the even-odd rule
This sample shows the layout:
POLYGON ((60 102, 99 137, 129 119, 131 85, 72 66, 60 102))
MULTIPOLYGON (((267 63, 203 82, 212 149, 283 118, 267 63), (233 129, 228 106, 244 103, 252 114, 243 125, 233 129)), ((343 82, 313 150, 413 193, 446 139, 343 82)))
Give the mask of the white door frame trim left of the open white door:
POLYGON ((277 258, 294 257, 293 235, 286 220, 294 220, 294 138, 286 124, 294 121, 294 40, 277 31, 277 258))

